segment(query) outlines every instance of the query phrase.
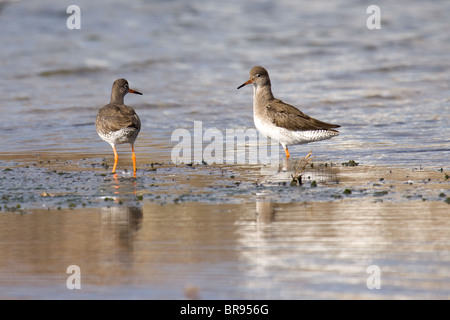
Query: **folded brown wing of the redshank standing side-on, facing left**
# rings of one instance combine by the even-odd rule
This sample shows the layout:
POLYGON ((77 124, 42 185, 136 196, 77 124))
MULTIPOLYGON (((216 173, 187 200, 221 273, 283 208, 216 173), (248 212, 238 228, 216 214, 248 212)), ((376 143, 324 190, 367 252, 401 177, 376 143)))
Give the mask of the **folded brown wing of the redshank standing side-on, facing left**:
POLYGON ((332 128, 339 128, 337 124, 326 123, 314 119, 296 107, 284 103, 279 99, 271 101, 267 107, 267 115, 271 121, 277 126, 292 131, 304 130, 332 130, 332 128))

